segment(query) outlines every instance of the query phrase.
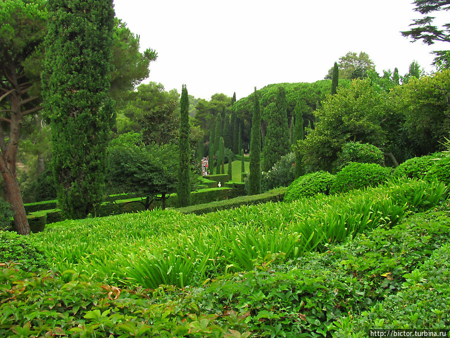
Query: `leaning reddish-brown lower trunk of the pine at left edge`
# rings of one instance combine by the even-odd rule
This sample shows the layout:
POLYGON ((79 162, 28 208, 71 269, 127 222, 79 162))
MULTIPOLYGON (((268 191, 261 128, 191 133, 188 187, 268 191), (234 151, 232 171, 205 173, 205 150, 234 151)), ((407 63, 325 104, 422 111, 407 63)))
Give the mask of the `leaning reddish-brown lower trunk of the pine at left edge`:
POLYGON ((28 219, 26 218, 25 207, 23 206, 17 178, 9 171, 3 171, 2 175, 5 193, 14 214, 15 231, 20 235, 29 235, 28 219))

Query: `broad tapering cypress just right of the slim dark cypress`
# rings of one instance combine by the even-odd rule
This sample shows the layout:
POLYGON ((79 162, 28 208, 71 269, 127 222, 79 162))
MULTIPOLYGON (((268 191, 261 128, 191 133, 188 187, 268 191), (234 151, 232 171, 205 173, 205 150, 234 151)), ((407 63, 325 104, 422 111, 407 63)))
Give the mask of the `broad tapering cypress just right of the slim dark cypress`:
MULTIPOLYGON (((253 135, 252 135, 253 136, 253 135)), ((287 102, 284 87, 278 87, 275 109, 269 111, 267 132, 264 137, 262 170, 268 171, 290 150, 287 125, 287 102)))

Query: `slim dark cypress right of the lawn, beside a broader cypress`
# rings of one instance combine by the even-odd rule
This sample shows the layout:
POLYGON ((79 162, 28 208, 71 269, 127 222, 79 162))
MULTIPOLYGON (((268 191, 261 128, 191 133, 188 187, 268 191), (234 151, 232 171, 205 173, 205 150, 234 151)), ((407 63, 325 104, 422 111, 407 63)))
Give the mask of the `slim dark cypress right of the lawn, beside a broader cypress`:
MULTIPOLYGON (((243 156, 243 155, 242 155, 243 156)), ((248 195, 259 194, 261 191, 261 109, 259 96, 254 88, 253 116, 251 118, 250 134, 250 172, 248 174, 248 195)))

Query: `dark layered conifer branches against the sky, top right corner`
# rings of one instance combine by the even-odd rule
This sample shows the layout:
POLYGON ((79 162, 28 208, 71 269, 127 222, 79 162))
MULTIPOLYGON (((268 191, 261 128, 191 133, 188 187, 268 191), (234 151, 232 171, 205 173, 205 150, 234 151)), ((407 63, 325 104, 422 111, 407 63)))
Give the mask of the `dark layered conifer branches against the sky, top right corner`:
MULTIPOLYGON (((448 0, 414 0, 414 11, 424 15, 421 19, 412 20, 409 31, 401 32, 404 37, 409 37, 412 42, 421 40, 423 43, 433 45, 437 42, 450 42, 450 24, 441 24, 439 27, 433 24, 435 17, 427 16, 436 11, 450 10, 448 0)), ((450 66, 450 51, 434 51, 434 65, 439 68, 450 66)))

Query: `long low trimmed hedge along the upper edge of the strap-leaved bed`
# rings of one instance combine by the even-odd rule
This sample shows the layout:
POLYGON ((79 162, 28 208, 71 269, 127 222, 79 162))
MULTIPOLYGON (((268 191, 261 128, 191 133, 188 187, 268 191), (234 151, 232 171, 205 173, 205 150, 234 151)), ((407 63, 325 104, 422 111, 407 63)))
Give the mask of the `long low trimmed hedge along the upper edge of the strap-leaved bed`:
POLYGON ((267 191, 263 194, 239 196, 228 200, 191 205, 188 207, 178 208, 175 210, 184 214, 194 213, 199 215, 218 210, 237 208, 241 205, 261 204, 267 202, 280 202, 283 200, 283 196, 286 189, 287 188, 278 188, 267 191))

